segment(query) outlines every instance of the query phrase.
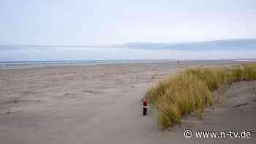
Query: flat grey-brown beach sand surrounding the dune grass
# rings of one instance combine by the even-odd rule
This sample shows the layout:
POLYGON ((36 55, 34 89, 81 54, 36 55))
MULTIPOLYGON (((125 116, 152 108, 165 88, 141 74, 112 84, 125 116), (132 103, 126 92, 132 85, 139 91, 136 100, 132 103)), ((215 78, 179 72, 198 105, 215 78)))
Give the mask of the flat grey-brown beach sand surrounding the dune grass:
MULTIPOLYGON (((202 120, 165 132, 140 100, 159 80, 195 63, 105 64, 0 70, 0 143, 256 143, 255 82, 236 83, 202 120), (240 107, 236 105, 247 103, 240 107), (184 129, 252 131, 241 140, 186 140, 184 129)), ((226 63, 212 63, 223 65, 226 63)), ((208 63, 201 64, 202 66, 208 63)))

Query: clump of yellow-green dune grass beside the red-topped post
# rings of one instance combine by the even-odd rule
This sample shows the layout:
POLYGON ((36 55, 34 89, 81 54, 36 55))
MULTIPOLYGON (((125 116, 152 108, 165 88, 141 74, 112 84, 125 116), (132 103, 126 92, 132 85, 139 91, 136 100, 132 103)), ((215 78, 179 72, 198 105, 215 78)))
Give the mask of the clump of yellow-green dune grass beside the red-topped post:
POLYGON ((241 80, 256 80, 256 64, 187 69, 149 89, 146 99, 157 112, 159 127, 167 129, 180 123, 182 115, 196 112, 201 117, 205 107, 214 105, 212 91, 241 80))

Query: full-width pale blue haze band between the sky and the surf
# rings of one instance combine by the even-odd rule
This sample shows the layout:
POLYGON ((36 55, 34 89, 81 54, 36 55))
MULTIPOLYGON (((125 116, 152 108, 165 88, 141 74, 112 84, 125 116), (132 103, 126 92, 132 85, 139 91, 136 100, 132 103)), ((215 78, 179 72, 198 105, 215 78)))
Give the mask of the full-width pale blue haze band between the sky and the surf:
POLYGON ((1 46, 0 61, 211 60, 256 58, 256 40, 189 44, 133 43, 112 47, 1 46))

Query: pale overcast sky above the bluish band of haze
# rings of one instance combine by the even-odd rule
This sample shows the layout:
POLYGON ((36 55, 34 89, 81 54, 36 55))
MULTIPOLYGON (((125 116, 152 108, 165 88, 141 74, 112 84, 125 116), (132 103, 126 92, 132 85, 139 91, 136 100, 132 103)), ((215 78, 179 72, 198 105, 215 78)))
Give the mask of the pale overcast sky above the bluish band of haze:
POLYGON ((256 38, 255 0, 0 0, 0 45, 256 38))

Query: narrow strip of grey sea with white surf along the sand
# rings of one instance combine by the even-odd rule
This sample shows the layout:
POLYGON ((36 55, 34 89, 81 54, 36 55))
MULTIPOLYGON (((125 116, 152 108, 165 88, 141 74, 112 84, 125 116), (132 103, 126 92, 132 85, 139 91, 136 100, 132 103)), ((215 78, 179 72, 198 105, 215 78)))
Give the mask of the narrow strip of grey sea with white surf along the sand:
POLYGON ((92 66, 100 64, 230 64, 239 62, 252 62, 255 59, 229 59, 229 60, 66 60, 66 61, 0 61, 0 69, 28 69, 35 67, 56 67, 56 66, 92 66))

